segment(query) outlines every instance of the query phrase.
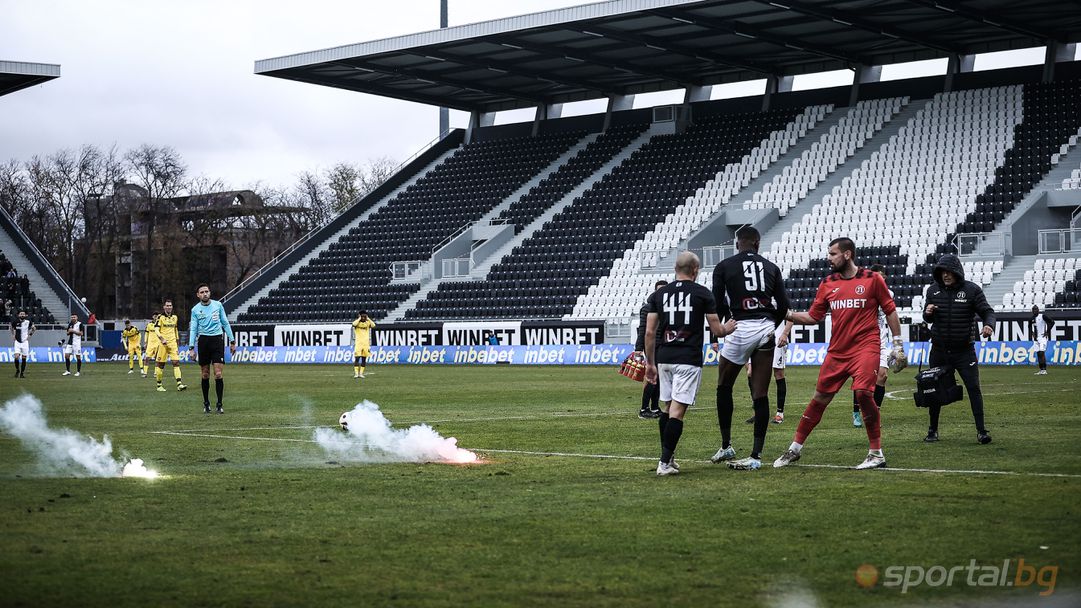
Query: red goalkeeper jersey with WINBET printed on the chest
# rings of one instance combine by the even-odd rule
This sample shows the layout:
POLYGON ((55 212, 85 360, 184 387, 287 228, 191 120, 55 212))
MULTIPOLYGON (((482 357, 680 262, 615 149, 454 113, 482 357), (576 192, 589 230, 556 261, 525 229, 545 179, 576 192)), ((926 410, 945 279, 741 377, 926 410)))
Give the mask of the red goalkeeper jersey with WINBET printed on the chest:
POLYGON ((878 353, 881 348, 878 310, 889 315, 897 306, 893 303, 885 279, 878 273, 857 268, 851 279, 833 273, 818 285, 818 293, 811 304, 816 320, 833 316, 827 352, 841 358, 858 354, 878 353))

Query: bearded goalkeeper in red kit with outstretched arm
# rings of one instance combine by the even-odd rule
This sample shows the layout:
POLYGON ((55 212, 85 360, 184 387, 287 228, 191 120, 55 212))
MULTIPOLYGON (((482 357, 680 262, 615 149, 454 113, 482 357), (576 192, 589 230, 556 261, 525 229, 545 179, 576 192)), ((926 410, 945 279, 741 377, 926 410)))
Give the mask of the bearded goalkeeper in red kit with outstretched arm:
POLYGON ((878 312, 881 308, 885 314, 890 333, 894 336, 890 368, 897 372, 907 365, 897 307, 882 275, 856 266, 856 246, 852 239, 833 239, 829 243, 828 260, 833 273, 818 285, 810 310, 789 312, 786 317, 796 325, 817 325, 829 313, 832 315, 832 329, 814 397, 803 411, 791 446, 774 461, 773 466, 779 468, 800 459, 808 435, 822 420, 833 395, 851 378, 852 391, 859 404, 870 442, 867 458, 856 468, 883 467, 885 457, 882 454, 879 408, 875 405, 875 382, 881 354, 878 312))

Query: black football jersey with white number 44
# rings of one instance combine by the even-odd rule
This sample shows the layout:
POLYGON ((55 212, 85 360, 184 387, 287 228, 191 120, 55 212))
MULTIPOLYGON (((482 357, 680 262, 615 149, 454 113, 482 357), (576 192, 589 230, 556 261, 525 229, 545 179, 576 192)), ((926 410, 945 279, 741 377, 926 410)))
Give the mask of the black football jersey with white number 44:
POLYGON ((672 281, 646 304, 657 314, 656 362, 702 367, 706 315, 717 314, 713 294, 694 281, 672 281))

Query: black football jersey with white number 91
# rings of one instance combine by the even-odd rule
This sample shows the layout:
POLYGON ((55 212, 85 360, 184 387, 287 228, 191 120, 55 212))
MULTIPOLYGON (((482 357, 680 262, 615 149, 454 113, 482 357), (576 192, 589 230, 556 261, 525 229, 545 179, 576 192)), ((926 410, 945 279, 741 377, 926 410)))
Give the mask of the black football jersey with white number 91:
POLYGON ((721 319, 770 319, 779 323, 790 302, 776 264, 753 251, 725 257, 713 268, 713 299, 721 319))

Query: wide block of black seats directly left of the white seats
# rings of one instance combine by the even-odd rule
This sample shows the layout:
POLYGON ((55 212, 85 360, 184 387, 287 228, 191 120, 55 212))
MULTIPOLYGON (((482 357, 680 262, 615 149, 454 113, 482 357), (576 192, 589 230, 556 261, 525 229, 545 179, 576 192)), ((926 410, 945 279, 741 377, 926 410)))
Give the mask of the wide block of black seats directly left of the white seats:
POLYGON ((492 267, 439 286, 406 319, 561 318, 651 226, 800 110, 710 117, 654 136, 492 267))

